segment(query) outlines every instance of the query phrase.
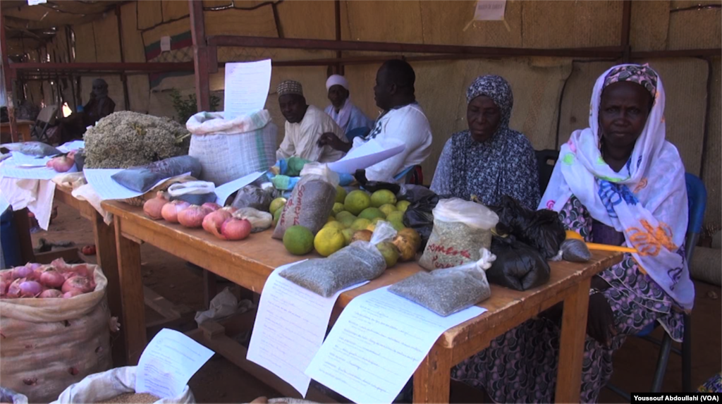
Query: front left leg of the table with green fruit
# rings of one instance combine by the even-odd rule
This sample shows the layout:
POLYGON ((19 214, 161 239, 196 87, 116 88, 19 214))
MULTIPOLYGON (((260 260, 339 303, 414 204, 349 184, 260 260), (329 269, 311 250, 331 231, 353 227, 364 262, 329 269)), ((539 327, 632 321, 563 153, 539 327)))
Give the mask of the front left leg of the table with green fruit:
POLYGON ((126 359, 136 365, 147 345, 143 276, 140 265, 140 245, 123 237, 122 221, 113 219, 118 254, 118 285, 121 295, 121 332, 126 340, 126 359))

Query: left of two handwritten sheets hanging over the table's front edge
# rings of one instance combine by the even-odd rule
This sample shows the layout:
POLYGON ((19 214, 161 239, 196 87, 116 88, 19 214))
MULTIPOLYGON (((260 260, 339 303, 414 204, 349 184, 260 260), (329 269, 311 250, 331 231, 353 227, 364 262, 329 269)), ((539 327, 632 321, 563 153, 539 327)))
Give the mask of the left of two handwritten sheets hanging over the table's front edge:
POLYGON ((311 379, 304 371, 321 348, 336 299, 367 282, 322 297, 279 275, 295 264, 276 268, 266 280, 246 359, 274 372, 305 397, 311 379))

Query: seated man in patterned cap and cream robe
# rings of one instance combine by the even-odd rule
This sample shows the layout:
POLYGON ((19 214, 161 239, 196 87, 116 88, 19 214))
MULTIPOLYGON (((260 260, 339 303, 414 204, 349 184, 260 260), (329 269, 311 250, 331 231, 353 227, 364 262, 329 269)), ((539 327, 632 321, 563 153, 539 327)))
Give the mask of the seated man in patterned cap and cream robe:
POLYGON ((323 133, 339 141, 346 140, 344 131, 334 120, 313 105, 307 105, 299 82, 287 80, 278 86, 278 103, 286 118, 286 135, 276 151, 277 159, 300 157, 310 162, 335 162, 344 157, 343 151, 318 147, 323 133))

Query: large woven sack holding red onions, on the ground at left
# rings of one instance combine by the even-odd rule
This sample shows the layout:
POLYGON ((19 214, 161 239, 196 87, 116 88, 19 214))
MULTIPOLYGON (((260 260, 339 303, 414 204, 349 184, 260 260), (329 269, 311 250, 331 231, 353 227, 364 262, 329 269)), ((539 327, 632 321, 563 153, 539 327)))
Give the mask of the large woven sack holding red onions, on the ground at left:
POLYGON ((79 265, 92 271, 95 291, 70 299, 0 300, 0 382, 30 403, 48 403, 113 364, 108 278, 97 265, 79 265))

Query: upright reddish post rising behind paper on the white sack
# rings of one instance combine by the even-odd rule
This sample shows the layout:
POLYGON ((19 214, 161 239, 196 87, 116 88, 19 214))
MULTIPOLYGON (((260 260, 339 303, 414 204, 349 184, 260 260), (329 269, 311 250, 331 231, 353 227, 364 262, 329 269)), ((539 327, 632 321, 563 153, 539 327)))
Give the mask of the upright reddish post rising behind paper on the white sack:
POLYGON ((196 71, 196 102, 198 111, 211 110, 208 44, 203 19, 203 0, 188 0, 191 10, 191 36, 193 37, 193 63, 196 71))

